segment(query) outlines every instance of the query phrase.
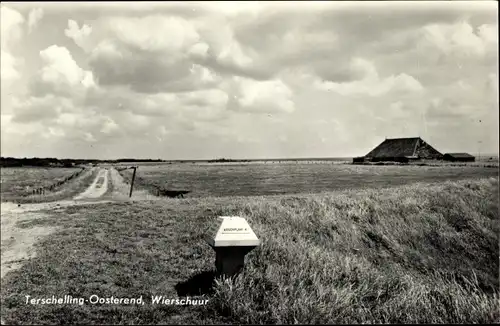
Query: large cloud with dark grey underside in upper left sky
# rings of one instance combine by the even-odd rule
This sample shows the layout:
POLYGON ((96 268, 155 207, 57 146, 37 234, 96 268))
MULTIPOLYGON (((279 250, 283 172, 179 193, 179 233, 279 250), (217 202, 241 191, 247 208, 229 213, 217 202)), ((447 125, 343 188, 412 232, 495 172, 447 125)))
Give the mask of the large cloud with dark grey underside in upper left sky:
POLYGON ((206 45, 194 24, 180 17, 109 17, 81 28, 70 20, 65 34, 88 53, 100 85, 156 93, 211 88, 219 81, 193 60, 203 56, 206 45))

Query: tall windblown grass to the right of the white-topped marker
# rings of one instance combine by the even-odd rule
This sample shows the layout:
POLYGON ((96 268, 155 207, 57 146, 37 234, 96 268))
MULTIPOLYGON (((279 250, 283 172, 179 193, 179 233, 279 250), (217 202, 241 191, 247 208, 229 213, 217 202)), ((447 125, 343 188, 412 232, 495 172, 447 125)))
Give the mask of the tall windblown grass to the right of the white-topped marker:
POLYGON ((491 323, 499 320, 498 183, 249 202, 263 244, 218 282, 233 323, 491 323), (357 197, 357 198, 356 198, 357 197))

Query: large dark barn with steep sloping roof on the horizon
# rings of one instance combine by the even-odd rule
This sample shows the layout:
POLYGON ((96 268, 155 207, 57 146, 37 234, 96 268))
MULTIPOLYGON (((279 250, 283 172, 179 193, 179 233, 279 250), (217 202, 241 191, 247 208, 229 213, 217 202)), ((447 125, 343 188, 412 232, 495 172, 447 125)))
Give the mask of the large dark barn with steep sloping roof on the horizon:
POLYGON ((361 162, 401 162, 408 163, 421 159, 442 159, 443 154, 427 144, 422 138, 392 138, 384 140, 370 153, 353 159, 354 163, 361 162))

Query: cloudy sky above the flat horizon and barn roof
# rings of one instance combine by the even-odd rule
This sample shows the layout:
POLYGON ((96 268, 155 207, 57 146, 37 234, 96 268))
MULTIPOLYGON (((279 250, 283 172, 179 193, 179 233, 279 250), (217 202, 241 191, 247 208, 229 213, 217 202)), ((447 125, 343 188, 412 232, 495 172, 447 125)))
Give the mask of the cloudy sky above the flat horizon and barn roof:
POLYGON ((498 3, 3 2, 1 155, 498 153, 498 3))

